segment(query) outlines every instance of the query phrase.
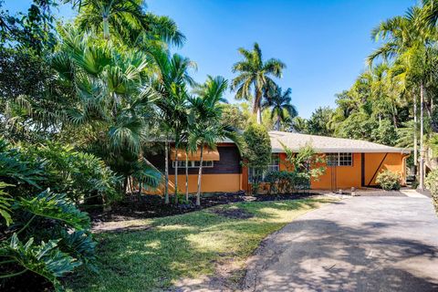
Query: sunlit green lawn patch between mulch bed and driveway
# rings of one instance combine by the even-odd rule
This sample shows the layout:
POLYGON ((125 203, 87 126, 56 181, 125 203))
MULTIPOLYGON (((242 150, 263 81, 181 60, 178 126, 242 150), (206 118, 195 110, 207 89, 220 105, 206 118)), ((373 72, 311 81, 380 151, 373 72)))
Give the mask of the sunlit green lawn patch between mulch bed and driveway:
POLYGON ((151 226, 145 231, 99 234, 99 273, 70 281, 68 290, 153 291, 183 277, 212 275, 219 259, 244 263, 266 235, 325 202, 234 203, 144 220, 151 226), (246 219, 224 216, 234 209, 246 219))

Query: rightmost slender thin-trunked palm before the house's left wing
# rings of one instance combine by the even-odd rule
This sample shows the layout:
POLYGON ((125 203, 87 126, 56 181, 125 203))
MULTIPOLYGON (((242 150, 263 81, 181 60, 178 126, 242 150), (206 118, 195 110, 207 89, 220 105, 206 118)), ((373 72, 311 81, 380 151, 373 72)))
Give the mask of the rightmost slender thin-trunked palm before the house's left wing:
POLYGON ((220 105, 228 81, 223 77, 209 76, 202 86, 194 90, 198 95, 190 99, 191 126, 189 132, 189 145, 192 151, 200 151, 198 183, 196 192, 196 205, 201 204, 201 182, 203 175, 203 149, 209 147, 213 150, 216 143, 229 138, 240 145, 235 129, 221 123, 222 107, 220 105))

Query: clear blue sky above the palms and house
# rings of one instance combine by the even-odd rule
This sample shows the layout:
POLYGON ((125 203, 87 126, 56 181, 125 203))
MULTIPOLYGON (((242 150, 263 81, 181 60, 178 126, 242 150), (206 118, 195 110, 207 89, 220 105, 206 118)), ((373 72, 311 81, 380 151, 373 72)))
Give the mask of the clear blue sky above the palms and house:
MULTIPOLYGON (((11 11, 30 0, 5 0, 11 11)), ((415 0, 149 0, 148 9, 171 16, 186 44, 178 53, 198 64, 197 81, 207 74, 234 77, 238 47, 258 42, 264 57, 287 64, 277 83, 292 89, 299 115, 318 106, 334 106, 335 94, 349 89, 365 68, 376 44, 370 30, 381 20, 401 15, 415 0)), ((72 16, 61 7, 61 16, 72 16)), ((233 93, 227 99, 234 102, 233 93)))

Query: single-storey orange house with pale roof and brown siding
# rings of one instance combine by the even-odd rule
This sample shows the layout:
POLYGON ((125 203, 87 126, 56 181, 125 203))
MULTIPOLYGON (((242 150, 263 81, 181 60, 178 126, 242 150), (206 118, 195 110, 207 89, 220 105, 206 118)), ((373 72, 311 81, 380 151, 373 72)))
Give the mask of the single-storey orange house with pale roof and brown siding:
MULTIPOLYGON (((310 145, 326 158, 326 171, 310 187, 318 190, 339 190, 351 187, 376 186, 376 177, 382 170, 401 174, 406 181, 406 158, 409 150, 389 147, 369 141, 340 139, 299 133, 270 131, 272 161, 271 171, 287 170, 283 145, 292 151, 310 145)), ((148 158, 160 171, 164 171, 164 155, 148 158)), ((232 193, 249 191, 252 171, 241 166, 240 153, 232 141, 218 143, 217 150, 203 150, 203 193, 232 193)), ((189 192, 196 192, 200 164, 200 151, 188 154, 189 192)), ((169 156, 170 190, 174 190, 175 169, 178 166, 178 188, 185 192, 185 152, 173 148, 169 156), (178 159, 176 159, 178 158, 178 159)), ((162 189, 153 193, 162 193, 162 189)))

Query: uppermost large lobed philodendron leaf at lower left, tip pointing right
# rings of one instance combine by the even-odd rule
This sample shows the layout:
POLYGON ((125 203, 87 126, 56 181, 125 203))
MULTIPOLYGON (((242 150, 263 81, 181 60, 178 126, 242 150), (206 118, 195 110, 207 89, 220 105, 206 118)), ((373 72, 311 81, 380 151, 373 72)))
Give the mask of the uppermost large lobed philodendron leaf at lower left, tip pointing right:
POLYGON ((46 190, 33 198, 21 198, 19 206, 41 217, 62 221, 76 229, 89 228, 89 216, 68 201, 66 194, 46 190))

